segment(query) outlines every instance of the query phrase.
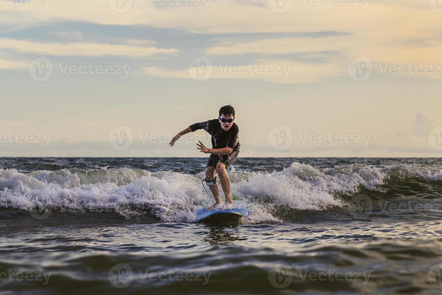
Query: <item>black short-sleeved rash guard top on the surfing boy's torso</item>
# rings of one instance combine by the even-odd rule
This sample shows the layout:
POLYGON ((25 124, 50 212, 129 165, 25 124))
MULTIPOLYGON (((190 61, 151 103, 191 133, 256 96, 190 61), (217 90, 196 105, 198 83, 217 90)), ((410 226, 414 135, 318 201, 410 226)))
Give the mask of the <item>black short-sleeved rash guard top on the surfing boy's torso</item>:
POLYGON ((240 149, 240 141, 238 133, 240 129, 236 123, 233 123, 229 130, 225 131, 221 128, 218 119, 209 120, 206 122, 195 123, 189 126, 194 132, 198 129, 206 130, 212 136, 212 148, 222 149, 229 147, 231 149, 240 149))

